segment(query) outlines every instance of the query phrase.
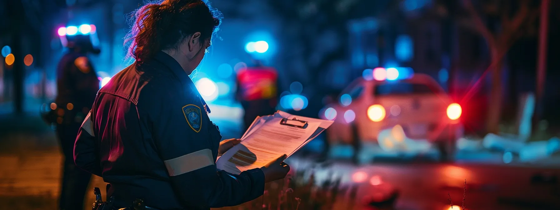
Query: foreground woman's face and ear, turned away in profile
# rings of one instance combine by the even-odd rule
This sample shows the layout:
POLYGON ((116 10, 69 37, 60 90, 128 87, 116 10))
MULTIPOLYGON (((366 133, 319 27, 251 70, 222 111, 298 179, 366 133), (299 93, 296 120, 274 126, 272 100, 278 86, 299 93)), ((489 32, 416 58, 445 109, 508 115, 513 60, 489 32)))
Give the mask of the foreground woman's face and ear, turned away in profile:
POLYGON ((200 38, 200 32, 195 32, 188 38, 188 41, 181 44, 179 50, 185 57, 185 63, 181 66, 185 68, 184 70, 187 74, 192 73, 194 69, 198 67, 209 47, 210 39, 202 40, 200 38))

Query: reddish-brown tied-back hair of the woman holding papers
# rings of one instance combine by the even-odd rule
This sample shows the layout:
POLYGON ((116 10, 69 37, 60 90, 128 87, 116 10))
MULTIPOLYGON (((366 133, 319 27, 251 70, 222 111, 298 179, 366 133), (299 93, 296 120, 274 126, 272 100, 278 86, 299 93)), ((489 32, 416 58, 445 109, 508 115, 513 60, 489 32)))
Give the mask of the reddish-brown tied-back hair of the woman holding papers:
POLYGON ((200 32, 200 43, 212 39, 222 13, 206 0, 165 0, 148 3, 133 12, 132 29, 124 40, 125 59, 142 63, 160 50, 178 49, 185 38, 200 32))

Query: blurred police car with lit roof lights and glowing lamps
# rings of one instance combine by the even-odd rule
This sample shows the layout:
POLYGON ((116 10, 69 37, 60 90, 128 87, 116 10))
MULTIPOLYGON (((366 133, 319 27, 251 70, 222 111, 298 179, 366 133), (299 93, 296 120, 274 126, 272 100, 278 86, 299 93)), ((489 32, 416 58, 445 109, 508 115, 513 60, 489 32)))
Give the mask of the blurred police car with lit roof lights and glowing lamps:
POLYGON ((442 160, 452 158, 456 139, 463 134, 461 106, 432 77, 412 74, 409 68, 410 76, 403 76, 405 70, 371 69, 344 89, 337 103, 326 105, 319 115, 334 120, 326 130, 328 141, 352 144, 359 139, 386 150, 392 145, 377 141, 380 132, 398 127, 405 138, 435 145, 442 160))

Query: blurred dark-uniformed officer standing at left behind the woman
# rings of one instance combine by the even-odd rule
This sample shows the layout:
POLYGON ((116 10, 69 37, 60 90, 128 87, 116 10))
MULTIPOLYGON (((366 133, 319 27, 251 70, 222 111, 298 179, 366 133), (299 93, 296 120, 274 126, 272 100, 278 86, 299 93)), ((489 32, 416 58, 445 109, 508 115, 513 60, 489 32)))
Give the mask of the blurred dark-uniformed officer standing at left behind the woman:
POLYGON ((51 105, 57 125, 57 136, 64 155, 60 209, 82 209, 83 199, 91 174, 74 164, 74 142, 80 125, 94 103, 99 90, 99 79, 87 58, 88 53, 99 54, 88 35, 67 36, 68 53, 57 67, 58 94, 56 105, 51 105))

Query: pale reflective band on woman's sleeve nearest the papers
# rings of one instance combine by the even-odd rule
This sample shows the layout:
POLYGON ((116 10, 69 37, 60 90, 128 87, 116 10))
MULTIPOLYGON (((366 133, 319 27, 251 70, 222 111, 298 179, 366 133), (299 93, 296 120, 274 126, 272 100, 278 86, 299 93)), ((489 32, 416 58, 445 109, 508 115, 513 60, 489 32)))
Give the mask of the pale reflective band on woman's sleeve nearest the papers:
POLYGON ((177 176, 186 172, 202 169, 214 165, 212 151, 204 149, 164 161, 170 176, 177 176))

